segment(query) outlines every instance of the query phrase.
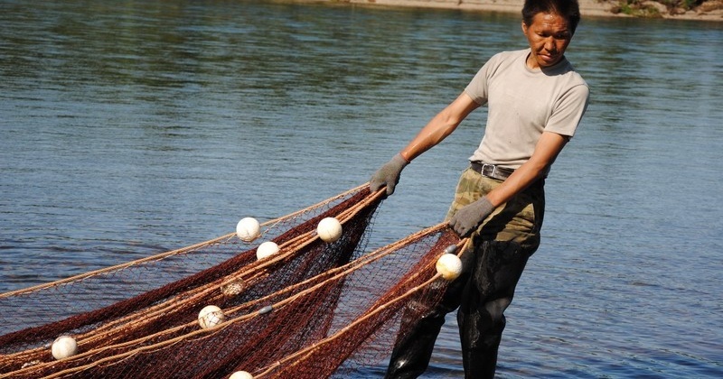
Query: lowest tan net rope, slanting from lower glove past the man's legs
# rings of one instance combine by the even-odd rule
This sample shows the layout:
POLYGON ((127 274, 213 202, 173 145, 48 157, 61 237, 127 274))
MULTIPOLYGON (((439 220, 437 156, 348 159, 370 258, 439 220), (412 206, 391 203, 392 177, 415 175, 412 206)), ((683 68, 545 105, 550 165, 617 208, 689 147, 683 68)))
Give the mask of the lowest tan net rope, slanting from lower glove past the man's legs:
MULTIPOLYGON (((447 225, 446 223, 442 223, 437 226, 432 226, 431 228, 420 232, 420 234, 427 233, 427 231, 442 229, 443 227, 446 227, 446 225, 447 225)), ((409 236, 408 238, 411 238, 411 237, 412 236, 409 236)), ((467 251, 467 246, 470 244, 470 241, 471 240, 469 238, 465 238, 465 239, 461 240, 460 242, 458 242, 457 244, 455 244, 457 247, 457 256, 461 256, 462 254, 465 253, 465 251, 467 251), (463 246, 463 247, 460 248, 461 246, 463 246)), ((393 250, 387 251, 387 254, 391 253, 392 251, 393 250)), ((381 256, 377 257, 377 259, 380 259, 380 258, 381 258, 381 256)), ((430 264, 434 264, 434 263, 435 262, 430 262, 429 264, 427 264, 427 266, 430 264)), ((422 275, 422 273, 421 272, 415 273, 415 275, 413 277, 409 277, 406 279, 408 280, 408 282, 412 282, 415 279, 415 277, 418 275, 422 275)), ((300 364, 305 357, 311 356, 320 347, 333 343, 333 341, 335 341, 338 338, 344 337, 350 330, 355 328, 357 325, 362 324, 362 322, 364 322, 368 319, 371 319, 372 317, 375 317, 378 313, 380 313, 383 310, 386 310, 388 307, 390 307, 396 303, 399 303, 402 300, 407 300, 410 296, 417 294, 419 291, 425 289, 431 283, 439 280, 441 278, 441 276, 442 276, 441 273, 436 273, 431 278, 429 278, 426 281, 422 282, 421 284, 418 284, 417 286, 409 289, 408 291, 404 292, 402 295, 392 298, 391 300, 385 301, 381 304, 372 305, 370 307, 370 311, 366 312, 361 318, 355 319, 351 324, 347 325, 346 327, 341 328, 339 331, 334 333, 333 336, 326 337, 309 347, 305 347, 304 349, 299 350, 292 355, 284 357, 284 359, 278 360, 273 365, 269 365, 267 368, 265 368, 264 371, 262 371, 258 374, 255 374, 254 378, 258 379, 258 378, 267 377, 268 375, 273 374, 274 370, 276 370, 277 367, 287 364, 287 363, 289 365, 286 365, 285 369, 286 370, 292 369, 295 365, 300 364)), ((360 344, 361 344, 361 342, 360 342, 360 344)))

